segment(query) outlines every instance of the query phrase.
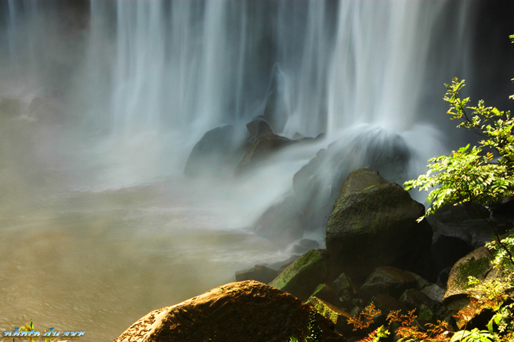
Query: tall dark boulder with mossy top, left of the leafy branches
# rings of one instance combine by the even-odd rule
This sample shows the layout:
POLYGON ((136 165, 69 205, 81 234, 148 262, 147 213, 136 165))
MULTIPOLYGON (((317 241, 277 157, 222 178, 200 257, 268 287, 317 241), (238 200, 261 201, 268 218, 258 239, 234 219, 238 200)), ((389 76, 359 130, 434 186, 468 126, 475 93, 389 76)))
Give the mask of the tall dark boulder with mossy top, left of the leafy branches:
POLYGON ((377 171, 352 171, 328 220, 326 247, 331 274, 345 272, 363 283, 373 268, 390 265, 425 276, 432 229, 423 204, 377 171))

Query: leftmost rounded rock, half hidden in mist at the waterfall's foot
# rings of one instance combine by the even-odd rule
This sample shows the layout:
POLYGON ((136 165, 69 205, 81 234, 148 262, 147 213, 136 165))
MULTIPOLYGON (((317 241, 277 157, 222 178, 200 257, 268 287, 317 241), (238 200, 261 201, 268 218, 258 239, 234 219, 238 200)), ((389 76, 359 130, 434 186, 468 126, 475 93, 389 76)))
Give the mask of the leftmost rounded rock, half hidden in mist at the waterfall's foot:
POLYGON ((231 174, 239 151, 236 132, 231 125, 221 125, 203 134, 193 147, 184 169, 186 176, 221 176, 231 174))

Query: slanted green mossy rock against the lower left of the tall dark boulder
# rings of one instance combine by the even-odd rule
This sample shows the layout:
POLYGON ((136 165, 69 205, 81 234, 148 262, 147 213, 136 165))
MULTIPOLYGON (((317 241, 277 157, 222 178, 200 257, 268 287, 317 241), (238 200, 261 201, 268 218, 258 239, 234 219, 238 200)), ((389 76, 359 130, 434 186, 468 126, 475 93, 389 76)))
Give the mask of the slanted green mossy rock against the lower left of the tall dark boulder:
POLYGON ((324 249, 313 249, 291 263, 279 274, 270 286, 306 300, 327 277, 327 253, 324 249))

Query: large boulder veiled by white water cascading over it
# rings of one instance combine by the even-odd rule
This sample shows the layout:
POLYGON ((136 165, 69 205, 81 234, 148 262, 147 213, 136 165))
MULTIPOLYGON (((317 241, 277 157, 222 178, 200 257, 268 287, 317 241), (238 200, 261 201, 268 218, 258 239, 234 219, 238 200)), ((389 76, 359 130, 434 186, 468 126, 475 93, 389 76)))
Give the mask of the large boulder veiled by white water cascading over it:
POLYGON ((344 139, 318 151, 295 173, 293 192, 283 200, 284 203, 263 213, 256 231, 273 239, 283 234, 282 239, 287 242, 305 231, 324 234, 333 203, 353 169, 375 169, 389 181, 403 182, 410 178, 407 176, 410 156, 408 145, 398 134, 373 127, 348 132, 344 139))

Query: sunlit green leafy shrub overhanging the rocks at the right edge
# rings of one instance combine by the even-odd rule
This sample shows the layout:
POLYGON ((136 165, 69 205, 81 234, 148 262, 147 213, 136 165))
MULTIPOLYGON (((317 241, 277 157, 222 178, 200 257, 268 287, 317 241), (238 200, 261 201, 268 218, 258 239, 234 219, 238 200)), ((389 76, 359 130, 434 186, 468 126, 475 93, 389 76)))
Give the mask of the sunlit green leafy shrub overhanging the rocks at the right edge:
POLYGON ((460 120, 458 128, 470 129, 483 139, 473 148, 468 144, 449 155, 429 159, 428 172, 405 182, 405 188, 430 191, 425 216, 442 206, 459 203, 478 213, 494 232, 495 242, 490 247, 500 247, 499 257, 514 266, 509 248, 514 240, 502 240, 483 213, 483 208, 490 208, 501 198, 514 196, 514 118, 510 111, 487 107, 482 100, 477 106, 469 106, 469 98, 458 96, 465 86, 464 80, 455 78, 445 86, 444 100, 450 104, 450 119, 460 120))

